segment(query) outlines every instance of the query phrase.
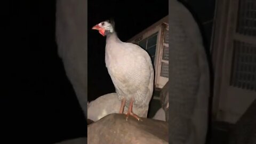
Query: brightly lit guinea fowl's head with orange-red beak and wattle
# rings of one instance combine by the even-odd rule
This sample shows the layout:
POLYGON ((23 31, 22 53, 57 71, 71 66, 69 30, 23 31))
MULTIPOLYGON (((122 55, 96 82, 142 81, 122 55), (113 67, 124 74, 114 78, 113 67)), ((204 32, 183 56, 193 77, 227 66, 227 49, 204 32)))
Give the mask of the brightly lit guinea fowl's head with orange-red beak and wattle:
POLYGON ((95 25, 94 27, 92 27, 92 29, 96 29, 99 30, 99 33, 102 36, 106 36, 110 33, 114 32, 114 21, 102 21, 100 23, 98 23, 97 25, 95 25))

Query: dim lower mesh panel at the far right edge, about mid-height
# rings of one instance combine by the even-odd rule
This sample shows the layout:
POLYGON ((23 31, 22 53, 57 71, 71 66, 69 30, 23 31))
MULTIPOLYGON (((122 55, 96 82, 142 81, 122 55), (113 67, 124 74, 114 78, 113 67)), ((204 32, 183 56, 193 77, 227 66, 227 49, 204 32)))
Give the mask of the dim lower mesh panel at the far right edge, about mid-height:
POLYGON ((230 85, 256 91, 256 45, 234 41, 230 85))

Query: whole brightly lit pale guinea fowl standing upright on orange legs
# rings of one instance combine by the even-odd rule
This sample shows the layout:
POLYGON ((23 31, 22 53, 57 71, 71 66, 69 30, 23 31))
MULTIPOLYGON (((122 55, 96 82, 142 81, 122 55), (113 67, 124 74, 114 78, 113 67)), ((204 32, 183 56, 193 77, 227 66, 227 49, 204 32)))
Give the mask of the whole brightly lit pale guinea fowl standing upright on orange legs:
POLYGON ((154 87, 154 69, 149 54, 138 45, 122 42, 115 32, 113 21, 100 22, 92 29, 107 36, 105 62, 117 97, 122 100, 119 113, 123 113, 125 106, 129 107, 126 120, 131 115, 140 121, 140 117, 132 111, 134 105, 147 108, 142 115, 147 117, 154 87))

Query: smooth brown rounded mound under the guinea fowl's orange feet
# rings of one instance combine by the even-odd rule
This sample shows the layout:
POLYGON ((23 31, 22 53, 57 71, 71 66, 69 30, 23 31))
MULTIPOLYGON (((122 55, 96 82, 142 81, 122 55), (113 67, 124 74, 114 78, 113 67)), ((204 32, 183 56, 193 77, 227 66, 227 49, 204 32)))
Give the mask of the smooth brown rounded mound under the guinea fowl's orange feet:
POLYGON ((168 123, 155 119, 134 117, 125 120, 124 114, 110 114, 87 127, 90 144, 168 143, 168 123))

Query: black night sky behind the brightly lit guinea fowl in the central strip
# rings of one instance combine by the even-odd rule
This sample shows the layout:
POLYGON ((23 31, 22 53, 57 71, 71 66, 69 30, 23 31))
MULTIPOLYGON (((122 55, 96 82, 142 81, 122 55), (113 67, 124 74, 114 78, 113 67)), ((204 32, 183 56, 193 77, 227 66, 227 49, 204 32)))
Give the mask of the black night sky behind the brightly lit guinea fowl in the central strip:
POLYGON ((168 15, 168 1, 89 1, 88 2, 88 101, 115 92, 105 65, 106 37, 94 25, 113 18, 121 41, 168 15))

